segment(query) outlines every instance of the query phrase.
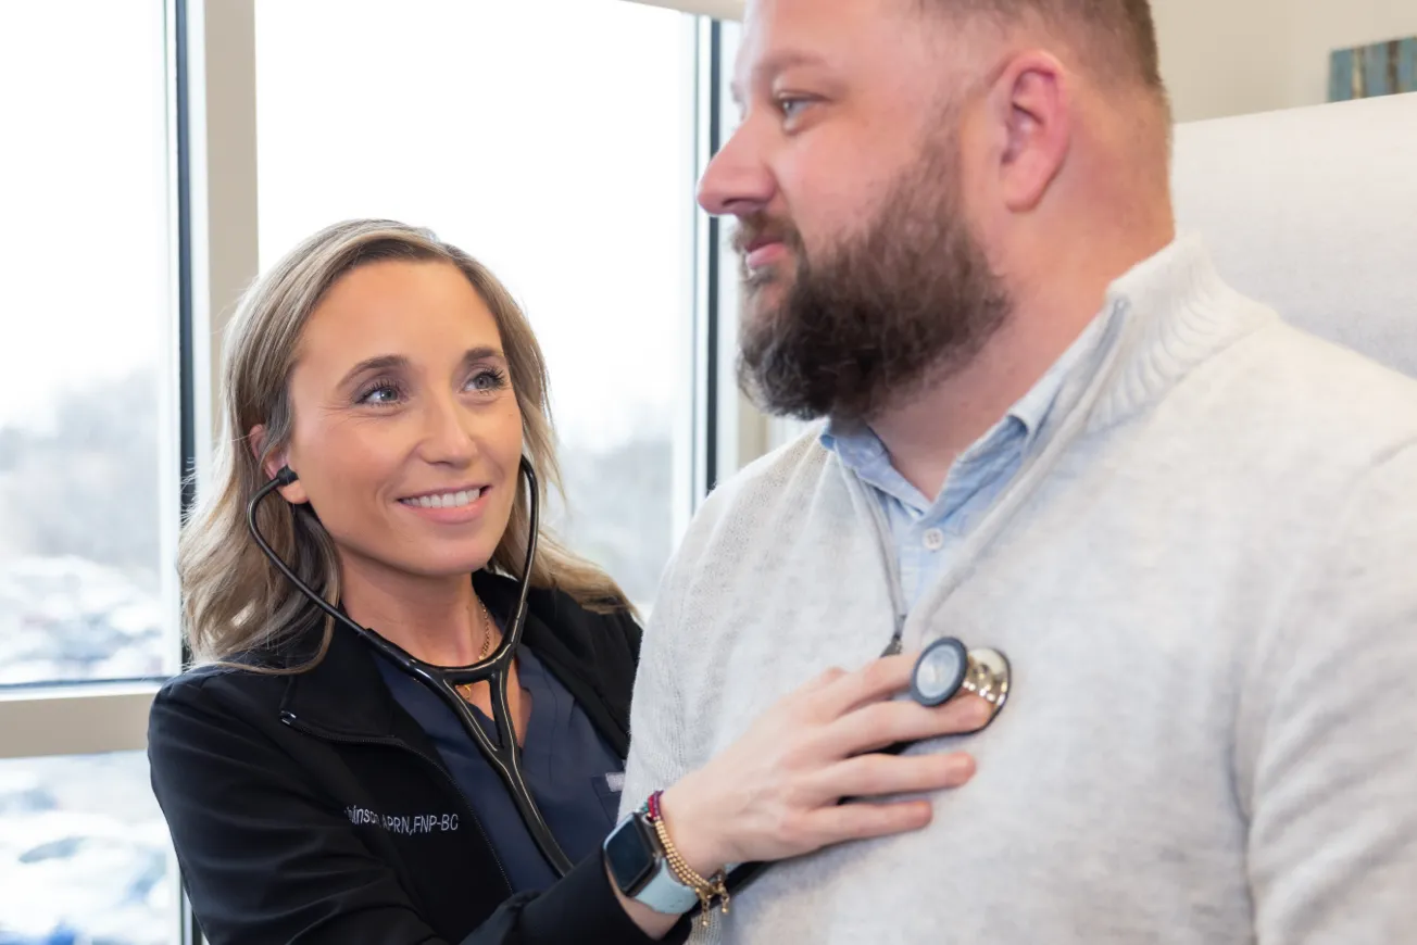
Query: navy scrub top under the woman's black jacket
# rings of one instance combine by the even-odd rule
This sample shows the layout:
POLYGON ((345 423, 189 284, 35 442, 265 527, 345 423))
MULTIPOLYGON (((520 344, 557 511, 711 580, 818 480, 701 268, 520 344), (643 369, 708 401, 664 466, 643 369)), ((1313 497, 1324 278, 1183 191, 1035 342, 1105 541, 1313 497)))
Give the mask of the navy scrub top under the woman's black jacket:
MULTIPOLYGON (((513 893, 540 891, 557 881, 531 839, 502 779, 482 757, 458 715, 422 683, 376 660, 390 691, 432 738, 444 764, 482 822, 513 893)), ((521 768, 557 843, 572 863, 601 849, 619 813, 625 762, 527 646, 517 652, 521 689, 531 696, 521 768)), ((496 725, 473 708, 492 740, 496 725)))

